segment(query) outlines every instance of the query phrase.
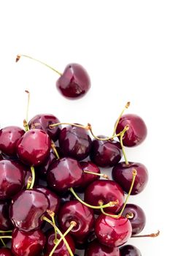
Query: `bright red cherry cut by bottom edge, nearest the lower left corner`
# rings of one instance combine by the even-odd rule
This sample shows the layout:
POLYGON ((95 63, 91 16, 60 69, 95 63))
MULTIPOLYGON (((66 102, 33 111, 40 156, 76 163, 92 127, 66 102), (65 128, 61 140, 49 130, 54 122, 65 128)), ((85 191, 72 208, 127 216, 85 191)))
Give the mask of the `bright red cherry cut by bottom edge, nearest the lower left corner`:
POLYGON ((12 253, 16 256, 41 255, 45 241, 45 235, 41 230, 26 233, 15 228, 12 231, 12 253))

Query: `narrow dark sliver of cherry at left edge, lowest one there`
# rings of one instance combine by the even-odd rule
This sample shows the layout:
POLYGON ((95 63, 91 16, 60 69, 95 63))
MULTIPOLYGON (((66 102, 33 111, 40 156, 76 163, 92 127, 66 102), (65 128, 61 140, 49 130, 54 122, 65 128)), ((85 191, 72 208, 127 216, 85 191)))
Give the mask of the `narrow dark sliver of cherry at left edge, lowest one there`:
POLYGON ((0 230, 7 231, 11 228, 12 222, 9 219, 9 203, 0 201, 0 230))

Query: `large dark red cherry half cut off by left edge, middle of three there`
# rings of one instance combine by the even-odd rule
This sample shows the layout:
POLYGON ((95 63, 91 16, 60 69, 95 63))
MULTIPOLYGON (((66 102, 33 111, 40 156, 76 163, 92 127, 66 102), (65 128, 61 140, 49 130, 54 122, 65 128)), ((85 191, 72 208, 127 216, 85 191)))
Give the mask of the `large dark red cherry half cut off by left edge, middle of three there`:
POLYGON ((0 200, 6 200, 23 189, 23 166, 11 160, 0 161, 0 200))

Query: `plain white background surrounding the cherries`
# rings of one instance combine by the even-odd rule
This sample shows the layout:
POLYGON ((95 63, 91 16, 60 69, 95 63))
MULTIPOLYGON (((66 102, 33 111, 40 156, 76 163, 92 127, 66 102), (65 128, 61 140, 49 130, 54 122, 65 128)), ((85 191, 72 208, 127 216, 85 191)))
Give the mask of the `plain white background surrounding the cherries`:
POLYGON ((25 89, 31 91, 30 118, 53 113, 61 121, 93 125, 111 135, 127 101, 144 118, 147 139, 128 148, 128 159, 142 162, 150 181, 131 197, 146 215, 143 233, 158 238, 130 240, 143 256, 169 255, 169 1, 1 1, 0 124, 22 126, 25 89), (86 97, 69 101, 55 89, 58 75, 29 59, 29 54, 63 72, 82 64, 92 86, 86 97), (166 253, 165 253, 166 252, 166 253))

